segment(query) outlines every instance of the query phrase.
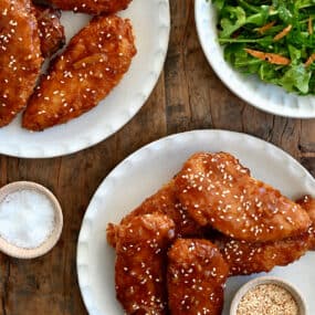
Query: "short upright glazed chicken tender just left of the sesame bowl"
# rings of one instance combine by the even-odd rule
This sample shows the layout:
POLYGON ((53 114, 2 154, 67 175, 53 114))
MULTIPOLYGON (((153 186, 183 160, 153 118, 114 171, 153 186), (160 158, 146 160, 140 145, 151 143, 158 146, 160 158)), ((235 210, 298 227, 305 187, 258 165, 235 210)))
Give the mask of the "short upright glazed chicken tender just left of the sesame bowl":
POLYGON ((229 266, 210 241, 177 239, 168 252, 168 303, 172 315, 221 314, 229 266))

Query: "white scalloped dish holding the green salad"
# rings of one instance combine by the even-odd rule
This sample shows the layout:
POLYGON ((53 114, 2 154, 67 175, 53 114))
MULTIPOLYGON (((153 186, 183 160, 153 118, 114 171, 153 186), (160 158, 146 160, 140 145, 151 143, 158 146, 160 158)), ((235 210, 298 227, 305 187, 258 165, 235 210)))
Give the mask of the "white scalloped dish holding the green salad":
POLYGON ((266 84, 258 76, 242 75, 224 61, 223 50, 218 42, 216 13, 211 0, 195 1, 199 40, 208 62, 220 80, 239 97, 264 112, 296 118, 315 117, 314 96, 298 96, 266 84))

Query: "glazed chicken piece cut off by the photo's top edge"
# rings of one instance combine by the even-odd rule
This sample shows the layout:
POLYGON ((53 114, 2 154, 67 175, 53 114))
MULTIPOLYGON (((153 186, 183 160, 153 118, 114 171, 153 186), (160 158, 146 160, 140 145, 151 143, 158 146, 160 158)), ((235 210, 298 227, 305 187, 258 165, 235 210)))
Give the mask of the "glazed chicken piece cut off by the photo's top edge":
POLYGON ((72 10, 98 15, 101 13, 116 13, 127 9, 132 0, 48 0, 62 10, 72 10))

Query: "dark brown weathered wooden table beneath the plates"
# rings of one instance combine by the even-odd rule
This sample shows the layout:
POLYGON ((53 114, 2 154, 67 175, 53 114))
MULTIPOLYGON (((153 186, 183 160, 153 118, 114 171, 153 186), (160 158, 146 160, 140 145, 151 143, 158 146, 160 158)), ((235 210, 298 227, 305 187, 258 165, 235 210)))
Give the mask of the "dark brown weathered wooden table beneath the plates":
MULTIPOLYGON (((86 207, 97 186, 125 157, 169 134, 220 128, 271 141, 315 175, 315 122, 260 112, 219 81, 198 42, 192 0, 170 0, 169 52, 158 84, 134 119, 103 143, 62 158, 0 156, 0 185, 34 180, 60 199, 64 213, 61 241, 49 254, 20 261, 0 254, 0 314, 86 314, 76 277, 76 241, 86 207)), ((75 136, 75 135, 74 135, 75 136)))

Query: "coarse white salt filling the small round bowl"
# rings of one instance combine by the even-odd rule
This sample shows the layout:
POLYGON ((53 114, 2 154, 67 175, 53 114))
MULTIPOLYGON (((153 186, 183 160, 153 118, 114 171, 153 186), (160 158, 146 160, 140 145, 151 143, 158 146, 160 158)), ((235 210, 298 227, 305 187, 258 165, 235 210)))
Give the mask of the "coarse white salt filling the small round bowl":
POLYGON ((0 237, 15 246, 40 246, 53 232, 54 221, 52 202, 38 190, 18 190, 0 202, 0 237))

